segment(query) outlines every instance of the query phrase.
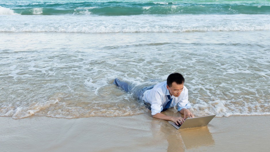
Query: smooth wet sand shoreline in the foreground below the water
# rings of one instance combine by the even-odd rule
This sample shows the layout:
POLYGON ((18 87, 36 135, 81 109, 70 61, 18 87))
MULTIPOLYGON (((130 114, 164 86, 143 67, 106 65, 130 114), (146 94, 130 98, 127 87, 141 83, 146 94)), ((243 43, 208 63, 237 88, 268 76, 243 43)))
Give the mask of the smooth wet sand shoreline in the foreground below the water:
MULTIPOLYGON (((169 115, 176 115, 170 111, 169 115)), ((0 117, 0 151, 268 151, 269 115, 215 117, 176 130, 150 112, 127 117, 0 117)))

